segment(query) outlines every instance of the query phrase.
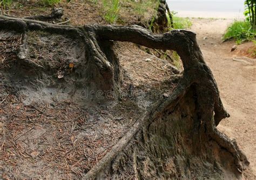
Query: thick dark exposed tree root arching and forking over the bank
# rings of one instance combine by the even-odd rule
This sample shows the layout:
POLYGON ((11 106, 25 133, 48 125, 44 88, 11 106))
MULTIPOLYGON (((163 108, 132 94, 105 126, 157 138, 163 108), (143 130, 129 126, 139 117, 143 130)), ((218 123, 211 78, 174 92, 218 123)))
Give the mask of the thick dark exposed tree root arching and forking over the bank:
MULTIPOLYGON (((178 104, 191 91, 196 112, 196 117, 193 119, 198 122, 194 131, 203 132, 206 139, 205 141, 198 140, 199 143, 208 141, 217 143, 220 148, 232 155, 234 164, 240 172, 244 169, 244 165, 248 165, 246 157, 236 143, 216 128, 222 119, 230 115, 224 109, 217 84, 210 68, 204 61, 196 41, 196 34, 193 32, 176 30, 164 34, 153 34, 140 26, 84 25, 76 27, 5 16, 0 16, 0 29, 22 34, 22 45, 19 47, 17 55, 19 57, 18 66, 22 64, 23 67, 35 71, 34 74, 48 69, 42 64, 30 60, 28 33, 37 31, 51 35, 65 35, 74 41, 77 40, 81 43, 85 55, 79 62, 76 71, 78 71, 79 77, 86 78, 88 87, 103 92, 119 92, 123 81, 122 68, 113 51, 113 41, 127 41, 153 49, 173 50, 181 57, 184 71, 172 93, 147 107, 143 117, 134 123, 130 131, 87 172, 84 178, 95 178, 104 171, 104 168, 111 164, 111 161, 127 147, 134 136, 138 135, 140 129, 143 129, 143 139, 146 142, 148 135, 145 135, 145 132, 149 131, 150 125, 166 113, 171 114, 176 111, 178 104)), ((138 174, 136 170, 134 171, 135 174, 138 174)))

